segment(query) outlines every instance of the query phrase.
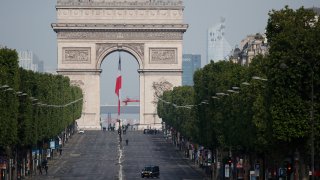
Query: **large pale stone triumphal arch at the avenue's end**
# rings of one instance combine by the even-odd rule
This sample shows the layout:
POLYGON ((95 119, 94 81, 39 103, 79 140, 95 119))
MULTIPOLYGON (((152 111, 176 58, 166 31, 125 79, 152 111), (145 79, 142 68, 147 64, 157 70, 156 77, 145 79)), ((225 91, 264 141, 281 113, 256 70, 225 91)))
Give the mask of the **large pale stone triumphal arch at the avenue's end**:
POLYGON ((79 127, 100 129, 101 64, 114 51, 139 64, 139 128, 160 126, 153 86, 181 85, 183 9, 182 0, 57 0, 57 72, 83 90, 79 127))

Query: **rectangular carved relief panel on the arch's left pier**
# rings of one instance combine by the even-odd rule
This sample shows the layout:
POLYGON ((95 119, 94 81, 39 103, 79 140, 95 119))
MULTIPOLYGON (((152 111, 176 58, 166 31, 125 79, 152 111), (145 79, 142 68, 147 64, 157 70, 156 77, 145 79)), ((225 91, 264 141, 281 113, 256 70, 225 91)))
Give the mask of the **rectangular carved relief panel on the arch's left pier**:
POLYGON ((90 64, 90 47, 63 48, 63 64, 90 64))

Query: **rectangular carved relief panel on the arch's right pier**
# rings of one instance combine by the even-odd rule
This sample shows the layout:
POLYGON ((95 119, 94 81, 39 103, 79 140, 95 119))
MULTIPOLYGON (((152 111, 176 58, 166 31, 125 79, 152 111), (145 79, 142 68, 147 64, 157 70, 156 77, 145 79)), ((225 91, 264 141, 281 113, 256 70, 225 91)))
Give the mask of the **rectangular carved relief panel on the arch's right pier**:
POLYGON ((150 64, 177 64, 177 49, 150 48, 150 64))

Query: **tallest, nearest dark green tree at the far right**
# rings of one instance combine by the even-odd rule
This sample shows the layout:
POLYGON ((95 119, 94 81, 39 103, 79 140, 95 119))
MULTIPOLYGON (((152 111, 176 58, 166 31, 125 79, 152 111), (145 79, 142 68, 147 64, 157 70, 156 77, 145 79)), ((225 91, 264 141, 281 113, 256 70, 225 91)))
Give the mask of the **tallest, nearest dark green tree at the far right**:
MULTIPOLYGON (((269 16, 272 129, 274 138, 296 147, 297 141, 307 142, 310 136, 312 82, 315 97, 320 95, 320 23, 313 11, 303 7, 295 11, 286 6, 280 11, 273 10, 269 16)), ((319 99, 314 107, 319 108, 319 99)), ((306 147, 299 144, 300 148, 306 147)))

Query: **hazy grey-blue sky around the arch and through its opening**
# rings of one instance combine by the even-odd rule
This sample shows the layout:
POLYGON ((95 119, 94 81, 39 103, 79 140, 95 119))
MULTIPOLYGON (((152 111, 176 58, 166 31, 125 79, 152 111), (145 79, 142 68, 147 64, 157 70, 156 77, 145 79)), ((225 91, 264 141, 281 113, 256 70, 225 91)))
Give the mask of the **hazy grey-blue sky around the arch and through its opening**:
MULTIPOLYGON (((45 69, 57 68, 56 0, 1 0, 0 45, 18 50, 30 50, 45 62, 45 69)), ((268 12, 304 6, 320 7, 320 0, 184 0, 184 21, 189 29, 184 34, 184 53, 201 54, 206 58, 206 32, 226 19, 226 39, 232 47, 248 34, 264 32, 268 12)), ((123 54, 124 96, 139 98, 138 64, 123 54)), ((114 82, 118 53, 108 56, 102 64, 102 104, 116 104, 114 82)))

